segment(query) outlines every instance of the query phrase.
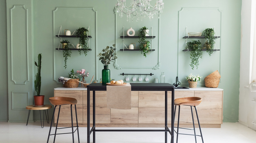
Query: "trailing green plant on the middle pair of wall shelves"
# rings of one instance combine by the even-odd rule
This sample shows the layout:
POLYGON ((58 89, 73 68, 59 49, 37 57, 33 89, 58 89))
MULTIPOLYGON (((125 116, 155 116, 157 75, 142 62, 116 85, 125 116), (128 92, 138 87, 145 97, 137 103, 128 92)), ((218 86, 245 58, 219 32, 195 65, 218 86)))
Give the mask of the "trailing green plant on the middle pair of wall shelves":
POLYGON ((145 57, 147 53, 149 53, 150 49, 150 42, 146 41, 146 33, 145 30, 148 29, 147 27, 142 27, 139 29, 139 51, 145 57))

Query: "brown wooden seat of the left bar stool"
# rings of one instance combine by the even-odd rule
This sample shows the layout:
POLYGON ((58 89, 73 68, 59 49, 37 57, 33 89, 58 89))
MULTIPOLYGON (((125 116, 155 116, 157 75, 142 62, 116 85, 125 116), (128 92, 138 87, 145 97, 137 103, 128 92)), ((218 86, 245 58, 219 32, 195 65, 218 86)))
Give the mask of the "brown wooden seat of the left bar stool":
POLYGON ((77 100, 71 97, 50 97, 49 101, 53 105, 64 105, 64 104, 75 105, 77 103, 77 100))

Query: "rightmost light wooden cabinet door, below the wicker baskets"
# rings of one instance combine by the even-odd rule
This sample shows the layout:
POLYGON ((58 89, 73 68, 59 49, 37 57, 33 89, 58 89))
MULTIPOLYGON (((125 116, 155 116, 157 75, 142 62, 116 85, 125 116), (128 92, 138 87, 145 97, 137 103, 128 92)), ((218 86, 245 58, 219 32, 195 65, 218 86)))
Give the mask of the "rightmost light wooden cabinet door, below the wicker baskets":
MULTIPOLYGON (((221 124, 223 91, 195 91, 195 97, 202 98, 196 106, 200 124, 221 124)), ((195 114, 194 118, 197 123, 195 114)))

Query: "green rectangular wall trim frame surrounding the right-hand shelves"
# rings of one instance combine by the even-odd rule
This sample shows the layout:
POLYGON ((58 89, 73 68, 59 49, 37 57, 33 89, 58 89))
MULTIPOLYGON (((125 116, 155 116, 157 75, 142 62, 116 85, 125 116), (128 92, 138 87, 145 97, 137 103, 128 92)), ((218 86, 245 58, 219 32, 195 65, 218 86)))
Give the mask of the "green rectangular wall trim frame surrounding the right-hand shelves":
MULTIPOLYGON (((222 29, 222 11, 219 8, 181 8, 181 10, 178 11, 178 35, 177 35, 177 40, 178 40, 178 45, 177 45, 177 76, 179 76, 179 47, 180 47, 180 42, 179 42, 179 38, 180 38, 180 14, 183 10, 185 9, 196 9, 196 10, 201 10, 201 9, 216 9, 220 12, 220 37, 221 36, 221 29, 222 29)), ((185 28, 185 27, 184 27, 185 28)), ((219 36, 219 35, 218 35, 219 36)), ((221 39, 220 38, 220 62, 219 62, 219 72, 221 73, 221 39)), ((182 86, 188 86, 188 84, 181 84, 182 86)), ((204 84, 197 84, 199 86, 204 85, 204 84)))

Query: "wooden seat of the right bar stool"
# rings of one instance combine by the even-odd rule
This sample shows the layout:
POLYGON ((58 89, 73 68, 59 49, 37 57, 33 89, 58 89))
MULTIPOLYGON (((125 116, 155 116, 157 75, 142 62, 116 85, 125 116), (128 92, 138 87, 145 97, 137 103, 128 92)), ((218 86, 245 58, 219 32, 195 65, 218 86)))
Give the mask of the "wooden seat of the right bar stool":
POLYGON ((201 103, 202 98, 200 97, 183 97, 174 100, 174 105, 188 105, 197 106, 201 103))

